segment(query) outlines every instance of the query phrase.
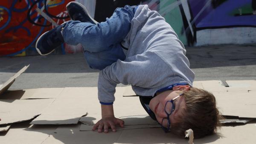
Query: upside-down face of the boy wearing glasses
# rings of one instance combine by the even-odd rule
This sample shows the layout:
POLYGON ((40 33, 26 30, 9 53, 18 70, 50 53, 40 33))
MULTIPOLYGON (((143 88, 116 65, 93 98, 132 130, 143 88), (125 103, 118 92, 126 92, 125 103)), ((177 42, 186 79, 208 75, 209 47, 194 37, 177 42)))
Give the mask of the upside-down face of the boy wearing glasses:
MULTIPOLYGON (((165 104, 167 101, 171 101, 173 98, 177 97, 182 93, 182 90, 189 90, 190 86, 175 86, 173 90, 167 90, 162 92, 151 99, 149 102, 149 108, 152 112, 154 112, 157 121, 161 124, 163 118, 167 117, 165 112, 165 104)), ((181 95, 179 98, 175 99, 175 110, 172 112, 172 115, 169 116, 171 124, 177 122, 177 116, 182 115, 182 112, 185 108, 185 99, 181 95), (175 119, 176 118, 176 119, 175 119)), ((172 107, 168 107, 172 109, 172 107)), ((166 107, 167 109, 167 107, 166 107)), ((163 124, 164 127, 167 127, 167 124, 163 124)))

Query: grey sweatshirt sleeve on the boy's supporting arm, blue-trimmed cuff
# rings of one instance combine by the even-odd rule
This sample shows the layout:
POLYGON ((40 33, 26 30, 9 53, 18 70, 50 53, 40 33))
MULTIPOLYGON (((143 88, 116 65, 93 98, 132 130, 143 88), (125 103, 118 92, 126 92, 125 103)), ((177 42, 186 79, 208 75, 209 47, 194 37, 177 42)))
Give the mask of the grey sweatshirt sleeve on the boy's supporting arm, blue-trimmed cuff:
POLYGON ((128 57, 124 61, 117 60, 107 66, 99 73, 98 98, 100 103, 113 104, 116 84, 154 87, 158 81, 161 81, 160 78, 152 81, 152 76, 155 77, 154 75, 160 73, 160 69, 156 69, 160 64, 163 64, 163 61, 154 52, 148 51, 141 55, 128 57))

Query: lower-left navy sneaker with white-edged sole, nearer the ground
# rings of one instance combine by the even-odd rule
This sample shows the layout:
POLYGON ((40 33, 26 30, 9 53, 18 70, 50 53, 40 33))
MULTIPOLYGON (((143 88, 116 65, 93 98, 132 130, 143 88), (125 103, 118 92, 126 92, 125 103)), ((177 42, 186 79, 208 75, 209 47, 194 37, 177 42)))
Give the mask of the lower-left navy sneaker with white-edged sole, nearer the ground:
POLYGON ((35 43, 35 48, 40 55, 49 55, 54 51, 54 49, 64 43, 64 38, 61 31, 65 25, 66 22, 48 32, 45 32, 38 38, 35 43))

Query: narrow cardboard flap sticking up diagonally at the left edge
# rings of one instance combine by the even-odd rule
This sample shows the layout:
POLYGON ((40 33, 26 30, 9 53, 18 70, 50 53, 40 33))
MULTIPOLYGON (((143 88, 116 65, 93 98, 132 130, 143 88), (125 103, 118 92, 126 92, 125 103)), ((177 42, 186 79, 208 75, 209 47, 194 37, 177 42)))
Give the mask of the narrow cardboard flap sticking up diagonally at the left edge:
MULTIPOLYGON (((29 64, 30 65, 30 64, 29 64)), ((14 83, 15 79, 20 76, 23 72, 26 71, 26 69, 29 67, 29 65, 24 66, 22 69, 20 69, 14 76, 12 76, 8 81, 6 81, 1 87, 0 87, 0 95, 5 92, 9 87, 14 83)))

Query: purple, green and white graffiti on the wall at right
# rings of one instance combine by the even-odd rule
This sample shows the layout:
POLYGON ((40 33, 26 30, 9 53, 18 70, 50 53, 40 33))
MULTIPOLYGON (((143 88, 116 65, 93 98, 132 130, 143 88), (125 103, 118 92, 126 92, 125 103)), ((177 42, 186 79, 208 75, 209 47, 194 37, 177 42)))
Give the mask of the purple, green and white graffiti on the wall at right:
POLYGON ((186 45, 256 43, 256 0, 160 0, 159 5, 158 12, 186 45), (218 37, 223 42, 210 42, 218 37))

